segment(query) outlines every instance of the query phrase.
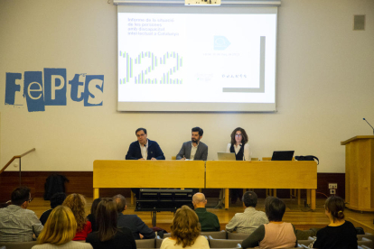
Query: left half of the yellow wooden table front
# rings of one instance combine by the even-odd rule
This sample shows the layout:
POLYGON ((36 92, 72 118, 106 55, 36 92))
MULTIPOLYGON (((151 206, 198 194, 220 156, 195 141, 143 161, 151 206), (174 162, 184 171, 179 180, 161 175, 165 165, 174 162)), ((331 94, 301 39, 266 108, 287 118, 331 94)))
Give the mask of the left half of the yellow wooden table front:
POLYGON ((205 161, 96 160, 93 188, 204 188, 205 161))

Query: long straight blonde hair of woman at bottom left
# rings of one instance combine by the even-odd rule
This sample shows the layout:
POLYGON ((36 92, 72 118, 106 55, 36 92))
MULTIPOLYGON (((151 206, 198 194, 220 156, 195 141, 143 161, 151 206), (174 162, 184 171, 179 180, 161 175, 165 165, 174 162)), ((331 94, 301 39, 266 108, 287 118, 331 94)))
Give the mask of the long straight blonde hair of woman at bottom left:
POLYGON ((51 211, 38 236, 38 243, 65 244, 74 238, 76 232, 77 222, 70 208, 58 206, 51 211))

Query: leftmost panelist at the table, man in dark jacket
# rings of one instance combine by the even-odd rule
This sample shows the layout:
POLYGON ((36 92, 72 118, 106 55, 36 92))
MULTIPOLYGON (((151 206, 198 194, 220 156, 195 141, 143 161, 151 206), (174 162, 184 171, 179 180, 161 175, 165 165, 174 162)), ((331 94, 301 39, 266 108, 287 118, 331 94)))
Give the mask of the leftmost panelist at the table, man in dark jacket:
POLYGON ((137 141, 130 144, 126 160, 165 160, 164 152, 157 142, 146 138, 145 128, 136 130, 137 141))

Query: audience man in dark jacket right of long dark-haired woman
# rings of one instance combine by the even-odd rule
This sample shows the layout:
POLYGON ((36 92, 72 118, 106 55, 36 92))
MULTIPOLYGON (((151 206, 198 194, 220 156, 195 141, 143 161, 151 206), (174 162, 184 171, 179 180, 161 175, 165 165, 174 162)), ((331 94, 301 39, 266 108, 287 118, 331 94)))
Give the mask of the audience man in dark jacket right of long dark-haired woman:
POLYGON ((145 239, 155 238, 154 231, 145 225, 143 220, 136 215, 124 215, 122 212, 126 210, 126 198, 122 195, 117 195, 113 197, 113 200, 117 204, 118 212, 118 227, 127 227, 133 232, 135 239, 145 239))

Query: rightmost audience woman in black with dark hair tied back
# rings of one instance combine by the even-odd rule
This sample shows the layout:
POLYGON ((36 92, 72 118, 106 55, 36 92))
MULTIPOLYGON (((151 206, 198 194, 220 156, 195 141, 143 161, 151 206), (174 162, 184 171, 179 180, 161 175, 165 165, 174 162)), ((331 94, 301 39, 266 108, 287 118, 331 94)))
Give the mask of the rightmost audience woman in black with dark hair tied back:
POLYGON ((327 198, 324 214, 329 217, 330 224, 317 232, 313 248, 357 248, 356 228, 344 219, 344 200, 340 197, 327 198))

